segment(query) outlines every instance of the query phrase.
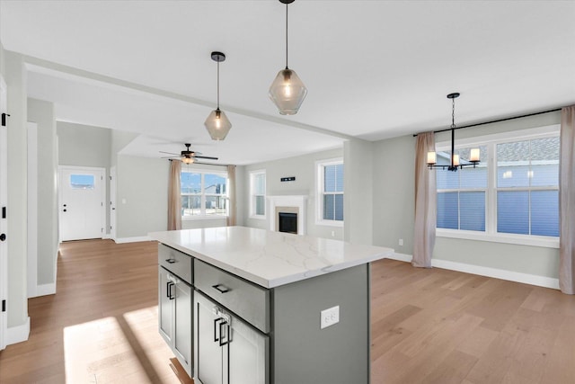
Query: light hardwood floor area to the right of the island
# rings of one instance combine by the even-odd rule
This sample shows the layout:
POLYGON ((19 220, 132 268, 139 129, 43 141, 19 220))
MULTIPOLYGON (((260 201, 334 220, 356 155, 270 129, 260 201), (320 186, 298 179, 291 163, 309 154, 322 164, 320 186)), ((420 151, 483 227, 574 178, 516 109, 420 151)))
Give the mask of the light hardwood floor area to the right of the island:
POLYGON ((575 297, 385 260, 372 266, 372 383, 575 383, 575 297))

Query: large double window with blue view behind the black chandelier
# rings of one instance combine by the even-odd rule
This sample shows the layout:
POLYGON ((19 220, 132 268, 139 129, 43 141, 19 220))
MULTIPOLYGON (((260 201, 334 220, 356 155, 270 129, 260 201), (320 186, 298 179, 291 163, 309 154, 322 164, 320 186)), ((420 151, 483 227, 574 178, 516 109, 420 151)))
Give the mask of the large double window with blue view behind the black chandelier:
MULTIPOLYGON (((558 246, 558 127, 477 138, 456 153, 468 158, 471 147, 480 147, 476 168, 433 171, 438 236, 558 246)), ((451 155, 442 148, 439 144, 438 164, 451 155)))

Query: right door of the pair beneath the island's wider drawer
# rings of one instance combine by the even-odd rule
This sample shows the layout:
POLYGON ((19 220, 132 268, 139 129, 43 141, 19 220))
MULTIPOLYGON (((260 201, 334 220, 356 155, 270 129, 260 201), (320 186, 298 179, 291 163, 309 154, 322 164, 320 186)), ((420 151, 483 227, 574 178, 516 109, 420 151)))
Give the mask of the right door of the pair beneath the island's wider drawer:
POLYGON ((237 317, 228 346, 229 384, 268 384, 270 338, 237 317))

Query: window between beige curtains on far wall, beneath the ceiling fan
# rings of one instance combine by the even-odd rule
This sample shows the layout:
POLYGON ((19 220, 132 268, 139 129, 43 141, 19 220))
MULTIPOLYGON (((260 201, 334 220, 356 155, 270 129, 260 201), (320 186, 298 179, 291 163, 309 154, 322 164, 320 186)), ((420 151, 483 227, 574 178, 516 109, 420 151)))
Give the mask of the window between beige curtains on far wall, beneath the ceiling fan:
POLYGON ((227 216, 227 174, 181 171, 181 217, 218 216, 227 216))

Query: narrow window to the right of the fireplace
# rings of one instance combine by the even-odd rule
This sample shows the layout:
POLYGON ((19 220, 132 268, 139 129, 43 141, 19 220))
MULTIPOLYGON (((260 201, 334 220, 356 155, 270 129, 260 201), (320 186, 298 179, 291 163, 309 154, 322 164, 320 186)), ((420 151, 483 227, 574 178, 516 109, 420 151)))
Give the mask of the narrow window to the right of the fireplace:
POLYGON ((317 190, 317 223, 342 226, 343 161, 341 159, 317 163, 317 190))

